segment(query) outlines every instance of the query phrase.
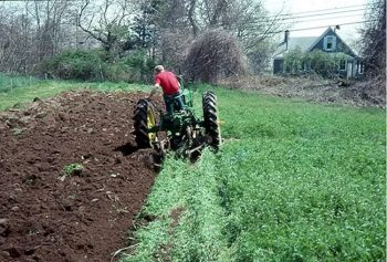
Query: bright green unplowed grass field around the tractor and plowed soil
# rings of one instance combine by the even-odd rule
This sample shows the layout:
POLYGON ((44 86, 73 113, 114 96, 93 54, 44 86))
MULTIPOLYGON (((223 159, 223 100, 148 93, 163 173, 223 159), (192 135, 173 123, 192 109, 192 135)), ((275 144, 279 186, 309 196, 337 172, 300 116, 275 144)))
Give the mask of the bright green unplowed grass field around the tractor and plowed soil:
MULTIPOLYGON (((36 82, 0 93, 0 109, 72 88, 148 86, 36 82)), ((166 160, 122 261, 386 260, 384 111, 210 86, 197 106, 206 88, 224 144, 166 160)))

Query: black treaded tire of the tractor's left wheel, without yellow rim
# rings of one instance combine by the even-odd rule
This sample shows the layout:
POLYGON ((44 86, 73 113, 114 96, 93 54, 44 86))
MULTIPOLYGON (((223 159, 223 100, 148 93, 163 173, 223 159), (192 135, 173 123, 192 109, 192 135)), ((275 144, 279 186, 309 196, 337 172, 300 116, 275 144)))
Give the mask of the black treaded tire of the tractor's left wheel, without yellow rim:
POLYGON ((149 148, 150 139, 148 134, 148 111, 153 109, 151 104, 147 99, 139 99, 137 102, 134 119, 134 134, 136 136, 136 144, 138 148, 149 148))

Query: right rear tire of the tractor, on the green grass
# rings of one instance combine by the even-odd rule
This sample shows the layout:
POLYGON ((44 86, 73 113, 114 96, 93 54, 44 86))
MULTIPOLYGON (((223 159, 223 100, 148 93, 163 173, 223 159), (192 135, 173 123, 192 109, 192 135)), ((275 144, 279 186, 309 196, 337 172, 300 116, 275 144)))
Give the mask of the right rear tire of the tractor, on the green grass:
POLYGON ((205 129, 208 136, 208 144, 216 150, 221 144, 219 117, 217 107, 217 96, 212 92, 206 92, 202 96, 202 108, 205 118, 205 129))

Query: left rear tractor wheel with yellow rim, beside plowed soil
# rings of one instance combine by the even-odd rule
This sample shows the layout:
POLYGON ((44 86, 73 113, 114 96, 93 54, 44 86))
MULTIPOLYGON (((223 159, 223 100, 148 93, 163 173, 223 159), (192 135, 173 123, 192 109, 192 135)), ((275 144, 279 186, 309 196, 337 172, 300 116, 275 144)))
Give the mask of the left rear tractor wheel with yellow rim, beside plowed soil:
POLYGON ((151 147, 151 143, 157 140, 157 134, 149 133, 149 129, 156 126, 156 115, 153 104, 147 99, 139 99, 133 119, 137 147, 151 147))

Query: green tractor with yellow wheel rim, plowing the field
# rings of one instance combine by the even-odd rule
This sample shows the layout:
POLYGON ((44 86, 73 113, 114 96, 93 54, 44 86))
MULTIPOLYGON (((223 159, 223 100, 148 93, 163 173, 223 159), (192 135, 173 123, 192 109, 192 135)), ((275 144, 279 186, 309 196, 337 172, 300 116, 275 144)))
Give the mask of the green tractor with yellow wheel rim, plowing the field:
POLYGON ((151 101, 142 98, 133 117, 137 147, 154 148, 161 159, 168 150, 176 151, 180 157, 197 159, 206 146, 217 151, 221 145, 217 96, 212 92, 203 93, 203 117, 200 119, 194 112, 192 91, 184 86, 181 77, 179 82, 182 109, 174 106, 170 115, 157 111, 151 101))

